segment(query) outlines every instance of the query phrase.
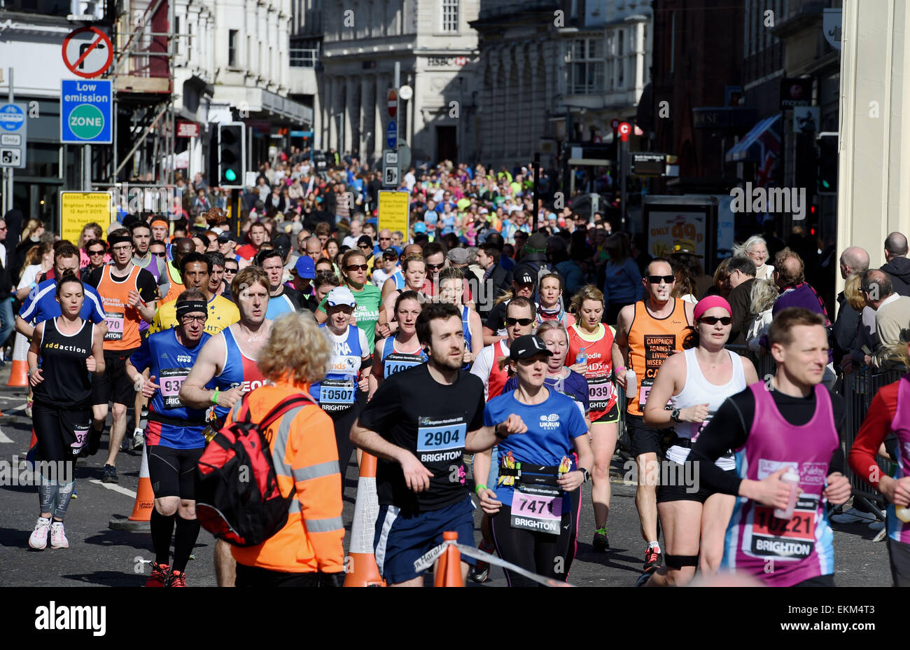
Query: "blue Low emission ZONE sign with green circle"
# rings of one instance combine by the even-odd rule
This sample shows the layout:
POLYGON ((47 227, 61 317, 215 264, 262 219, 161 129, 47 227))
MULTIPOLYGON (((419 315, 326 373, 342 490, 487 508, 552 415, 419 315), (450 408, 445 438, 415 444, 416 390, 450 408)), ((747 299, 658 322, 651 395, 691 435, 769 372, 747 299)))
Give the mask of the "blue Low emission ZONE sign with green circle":
POLYGON ((67 145, 111 144, 111 82, 64 80, 60 87, 60 141, 67 145))

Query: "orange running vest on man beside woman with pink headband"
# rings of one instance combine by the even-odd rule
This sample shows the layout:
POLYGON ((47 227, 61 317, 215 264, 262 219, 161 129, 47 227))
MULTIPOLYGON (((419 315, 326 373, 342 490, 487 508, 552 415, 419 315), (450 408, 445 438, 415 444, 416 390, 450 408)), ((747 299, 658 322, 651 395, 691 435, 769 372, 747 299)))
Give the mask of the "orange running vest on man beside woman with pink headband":
POLYGON ((629 367, 635 371, 636 385, 626 388, 630 415, 644 415, 644 402, 663 360, 682 351, 682 340, 690 323, 685 302, 678 298, 673 300, 671 314, 662 319, 656 319, 648 312, 644 300, 635 303, 635 315, 629 328, 629 367))

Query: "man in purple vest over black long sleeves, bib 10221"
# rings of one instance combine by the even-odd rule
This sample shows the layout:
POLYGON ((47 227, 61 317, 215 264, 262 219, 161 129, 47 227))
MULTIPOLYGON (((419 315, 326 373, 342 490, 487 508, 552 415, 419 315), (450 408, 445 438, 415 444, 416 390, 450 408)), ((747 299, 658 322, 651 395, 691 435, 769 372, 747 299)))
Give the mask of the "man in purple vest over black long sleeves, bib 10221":
POLYGON ((777 363, 770 385, 753 383, 724 401, 689 459, 699 463, 709 490, 740 497, 727 525, 721 573, 751 575, 769 586, 834 586, 826 505, 846 503, 851 490, 838 437, 845 403, 821 385, 828 363, 824 319, 800 307, 781 310, 768 342, 777 363), (714 464, 730 449, 735 475, 714 464), (793 496, 794 483, 784 475, 793 477, 793 496))

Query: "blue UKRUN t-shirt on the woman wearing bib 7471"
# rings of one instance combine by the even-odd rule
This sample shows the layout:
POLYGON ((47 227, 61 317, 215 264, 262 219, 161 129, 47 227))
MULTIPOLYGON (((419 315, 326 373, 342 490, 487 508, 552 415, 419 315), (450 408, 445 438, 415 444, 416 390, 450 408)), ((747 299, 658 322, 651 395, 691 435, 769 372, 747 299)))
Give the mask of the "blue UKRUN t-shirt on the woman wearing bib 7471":
MULTIPOLYGON (((531 465, 555 466, 563 457, 572 458, 572 441, 588 433, 588 426, 581 417, 575 401, 560 392, 547 389, 550 396, 540 404, 529 406, 515 399, 515 392, 503 393, 487 402, 483 410, 484 426, 494 426, 506 421, 511 413, 521 417, 528 431, 510 435, 499 442, 500 462, 511 452, 515 462, 531 465)), ((572 463, 574 464, 574 462, 572 463)), ((511 506, 513 488, 507 485, 489 485, 497 501, 511 506)), ((570 500, 562 500, 563 513, 567 513, 570 500)))

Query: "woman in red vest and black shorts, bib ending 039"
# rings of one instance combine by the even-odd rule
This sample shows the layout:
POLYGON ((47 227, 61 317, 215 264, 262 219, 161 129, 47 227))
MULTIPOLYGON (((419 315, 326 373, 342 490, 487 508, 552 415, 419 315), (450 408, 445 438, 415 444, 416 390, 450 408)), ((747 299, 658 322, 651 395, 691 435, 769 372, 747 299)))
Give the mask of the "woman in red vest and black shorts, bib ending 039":
MULTIPOLYGON (((544 279, 548 278, 549 276, 544 279)), ((594 539, 591 547, 594 551, 603 553, 610 550, 610 540, 607 537, 611 497, 610 463, 616 450, 617 423, 620 419, 619 405, 616 403, 618 396, 611 377, 614 330, 601 322, 603 293, 591 284, 579 289, 572 298, 571 311, 578 321, 569 326, 569 350, 565 362, 572 371, 584 375, 588 382, 591 452, 594 454, 591 471, 594 539)))

